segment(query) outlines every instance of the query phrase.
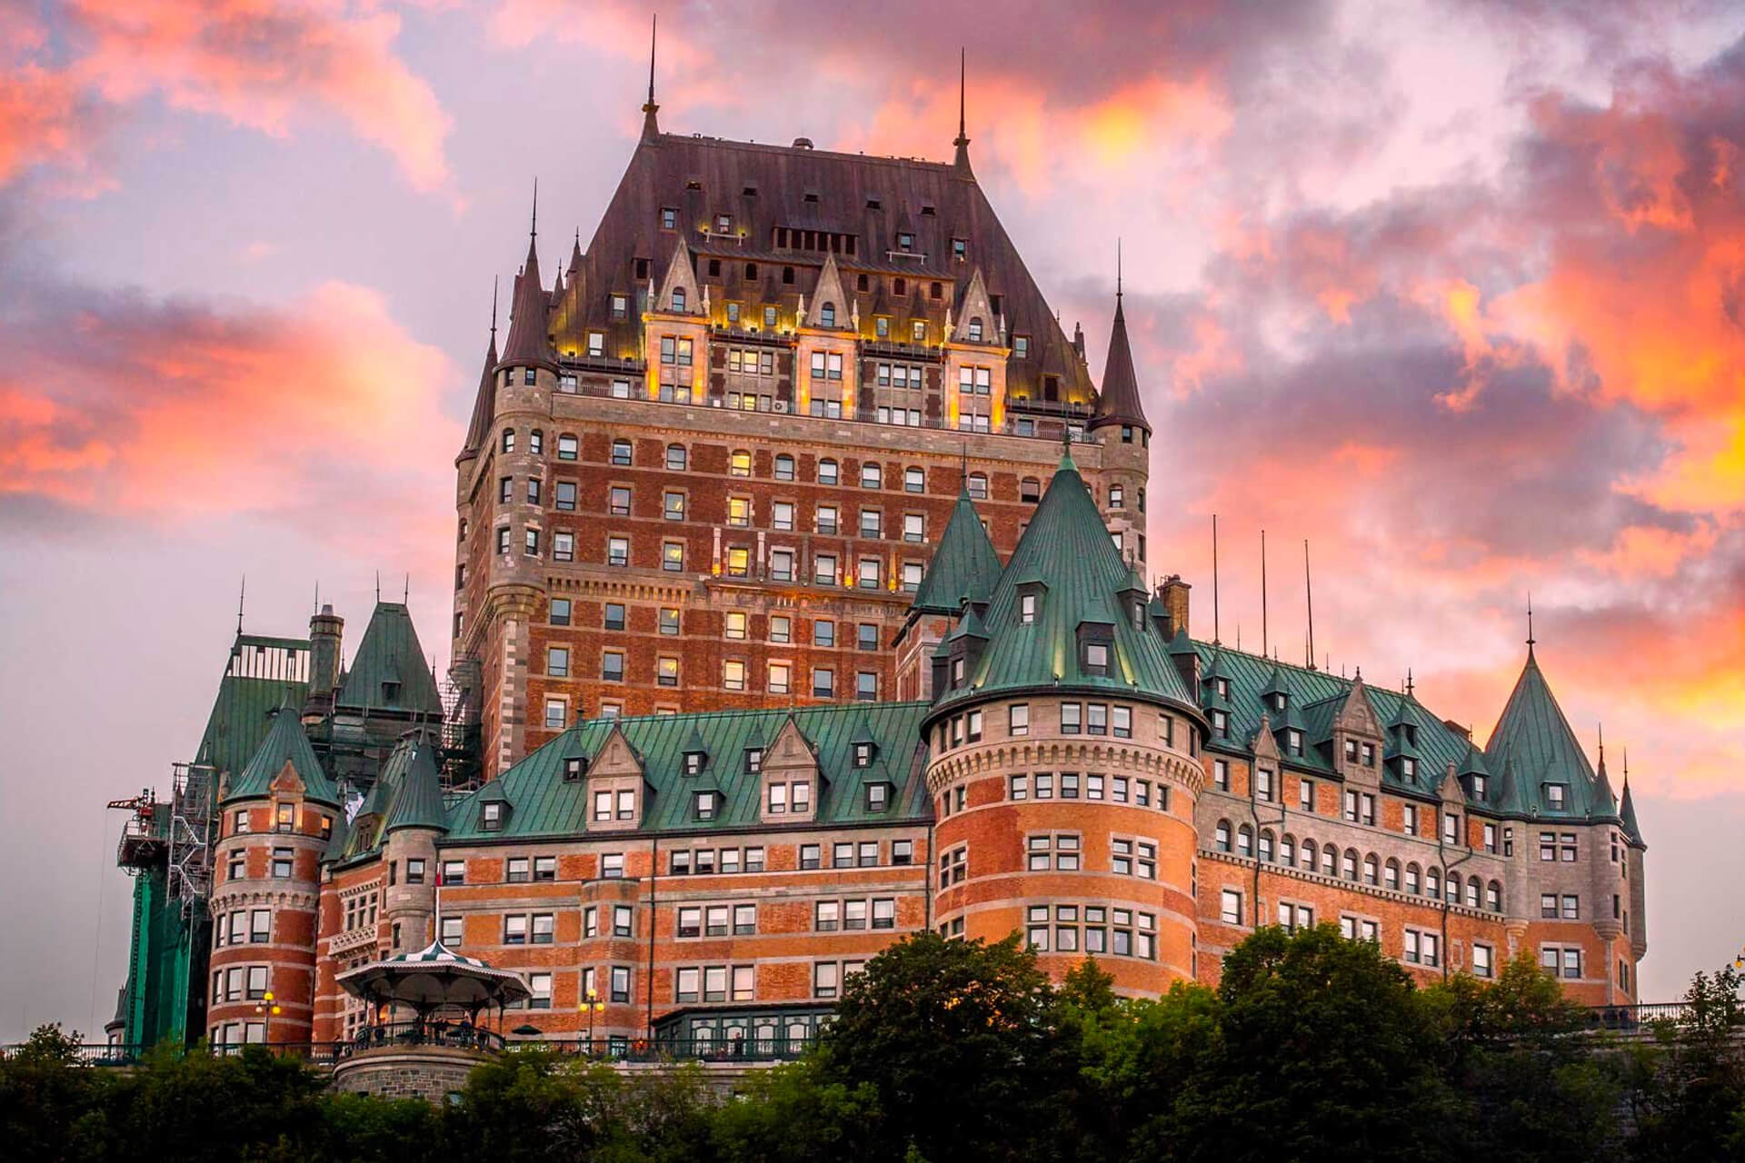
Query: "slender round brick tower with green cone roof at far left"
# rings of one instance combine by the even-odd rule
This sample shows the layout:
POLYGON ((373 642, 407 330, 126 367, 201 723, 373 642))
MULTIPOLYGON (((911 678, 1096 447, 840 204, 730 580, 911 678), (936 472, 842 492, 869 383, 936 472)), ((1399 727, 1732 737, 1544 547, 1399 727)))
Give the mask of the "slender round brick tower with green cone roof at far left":
POLYGON ((284 706, 220 800, 213 868, 213 1043, 307 1043, 321 854, 339 793, 284 706))

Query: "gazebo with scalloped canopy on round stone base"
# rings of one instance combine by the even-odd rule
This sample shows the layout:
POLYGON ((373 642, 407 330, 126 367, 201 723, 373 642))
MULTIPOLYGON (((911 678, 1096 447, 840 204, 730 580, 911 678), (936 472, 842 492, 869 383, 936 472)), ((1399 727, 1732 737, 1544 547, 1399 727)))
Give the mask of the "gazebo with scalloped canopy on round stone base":
POLYGON ((340 1046, 335 1086, 433 1102, 459 1090, 482 1057, 503 1050, 503 1011, 530 994, 520 973, 457 954, 440 940, 337 980, 370 1006, 370 1022, 340 1046), (480 1024, 492 1008, 497 1030, 480 1024), (410 1020, 396 1017, 407 1010, 410 1020))

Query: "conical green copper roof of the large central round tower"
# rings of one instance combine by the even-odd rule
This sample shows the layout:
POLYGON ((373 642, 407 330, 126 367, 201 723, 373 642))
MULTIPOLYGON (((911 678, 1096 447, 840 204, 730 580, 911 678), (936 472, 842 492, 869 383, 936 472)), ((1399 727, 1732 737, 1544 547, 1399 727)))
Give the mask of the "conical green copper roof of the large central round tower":
POLYGON ((1145 595, 1133 593, 1131 577, 1077 466, 1063 457, 993 588, 988 614, 977 619, 975 633, 984 633, 988 643, 965 668, 963 685, 944 690, 939 706, 1037 687, 1148 696, 1194 706, 1152 619, 1141 616, 1134 624, 1134 605, 1143 614, 1145 595), (1021 622, 1019 600, 1031 593, 1037 595, 1035 621, 1021 622), (1110 643, 1106 675, 1082 668, 1084 629, 1110 643))

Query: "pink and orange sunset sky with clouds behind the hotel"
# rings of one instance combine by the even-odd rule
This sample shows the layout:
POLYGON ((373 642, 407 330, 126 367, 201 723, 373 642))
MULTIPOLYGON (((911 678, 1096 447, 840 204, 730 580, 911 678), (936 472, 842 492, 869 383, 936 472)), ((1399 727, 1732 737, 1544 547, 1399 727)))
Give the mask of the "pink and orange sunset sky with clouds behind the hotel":
MULTIPOLYGON (((668 133, 975 173, 1103 366, 1152 567, 1483 738, 1537 656, 1630 755, 1642 994, 1745 942, 1745 12, 1703 3, 663 3, 668 133)), ((492 277, 593 232, 649 9, 0 0, 0 1041, 126 976, 120 813, 236 629, 447 650, 492 277)), ((445 657, 440 659, 447 663, 445 657)))

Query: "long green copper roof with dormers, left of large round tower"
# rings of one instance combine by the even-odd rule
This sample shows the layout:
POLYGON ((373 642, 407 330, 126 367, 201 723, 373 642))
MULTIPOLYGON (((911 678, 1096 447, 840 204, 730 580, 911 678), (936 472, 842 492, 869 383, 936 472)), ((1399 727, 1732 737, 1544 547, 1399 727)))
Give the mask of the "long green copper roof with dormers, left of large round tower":
MULTIPOLYGON (((745 769, 745 752, 770 746, 789 715, 811 745, 822 776, 813 793, 815 823, 906 823, 930 818, 923 778, 921 717, 925 703, 841 703, 789 710, 593 718, 576 724, 448 811, 445 844, 490 839, 574 837, 588 833, 588 778, 564 781, 567 757, 599 757, 614 725, 642 764, 644 814, 639 833, 733 832, 763 828, 763 779, 745 769), (693 736, 710 755, 701 776, 684 774, 693 736), (871 736, 876 760, 853 765, 853 743, 871 736), (869 813, 866 786, 892 783, 890 809, 869 813), (719 792, 714 820, 698 820, 695 792, 719 792), (483 799, 510 804, 499 832, 480 828, 483 799)), ((623 835, 612 832, 612 835, 623 835)))

